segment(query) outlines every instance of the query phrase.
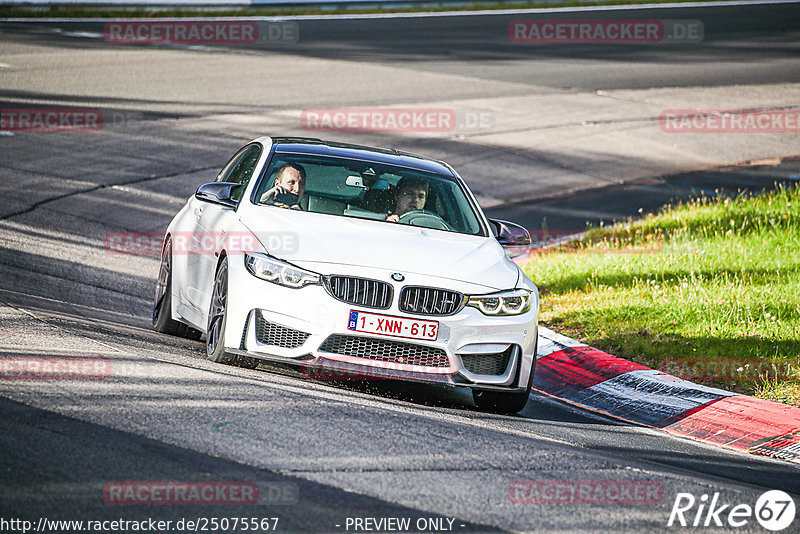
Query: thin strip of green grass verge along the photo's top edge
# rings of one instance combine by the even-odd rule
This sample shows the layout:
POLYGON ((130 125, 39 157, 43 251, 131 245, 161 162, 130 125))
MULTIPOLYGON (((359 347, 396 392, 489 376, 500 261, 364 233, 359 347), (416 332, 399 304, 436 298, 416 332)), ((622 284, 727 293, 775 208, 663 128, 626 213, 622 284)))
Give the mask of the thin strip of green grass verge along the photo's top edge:
MULTIPOLYGON (((171 8, 135 6, 0 6, 0 18, 183 18, 183 17, 273 17, 290 15, 338 15, 369 13, 418 13, 441 11, 488 11, 497 9, 541 9, 551 7, 582 6, 626 6, 634 4, 666 4, 694 2, 697 0, 564 0, 521 1, 521 2, 483 2, 450 3, 420 1, 415 5, 358 5, 320 4, 320 5, 282 5, 256 7, 215 7, 171 8)), ((703 1, 703 0, 701 0, 703 1)), ((712 2, 715 0, 705 0, 712 2)))

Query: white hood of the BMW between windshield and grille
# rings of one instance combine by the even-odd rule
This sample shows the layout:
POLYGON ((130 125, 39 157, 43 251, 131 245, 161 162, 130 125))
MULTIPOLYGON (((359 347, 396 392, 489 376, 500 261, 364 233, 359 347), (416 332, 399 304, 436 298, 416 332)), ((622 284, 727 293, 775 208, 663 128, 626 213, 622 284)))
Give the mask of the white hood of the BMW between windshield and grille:
POLYGON ((493 290, 514 288, 519 279, 516 264, 486 237, 267 206, 254 206, 240 221, 271 255, 317 272, 324 264, 330 272, 352 265, 493 290))

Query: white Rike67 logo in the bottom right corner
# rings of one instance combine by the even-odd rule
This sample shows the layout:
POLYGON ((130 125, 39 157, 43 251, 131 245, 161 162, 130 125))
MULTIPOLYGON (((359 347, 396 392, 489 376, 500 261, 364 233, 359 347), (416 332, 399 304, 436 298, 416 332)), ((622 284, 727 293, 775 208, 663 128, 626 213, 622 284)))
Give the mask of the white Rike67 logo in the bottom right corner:
POLYGON ((715 492, 710 498, 706 494, 696 498, 691 493, 678 493, 667 526, 730 529, 750 525, 755 517, 765 529, 778 532, 792 524, 794 515, 794 500, 788 493, 780 490, 761 494, 755 506, 722 503, 719 492, 715 492))

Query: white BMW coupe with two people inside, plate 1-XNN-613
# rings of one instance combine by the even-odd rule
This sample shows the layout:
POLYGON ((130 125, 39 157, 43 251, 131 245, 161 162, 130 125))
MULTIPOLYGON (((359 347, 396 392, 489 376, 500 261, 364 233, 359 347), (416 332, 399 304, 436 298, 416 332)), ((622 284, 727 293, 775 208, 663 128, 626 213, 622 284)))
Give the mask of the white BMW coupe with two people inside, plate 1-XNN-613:
POLYGON ((467 387, 513 413, 533 382, 539 293, 506 249, 529 243, 444 162, 262 137, 167 228, 153 326, 205 333, 216 362, 467 387))

